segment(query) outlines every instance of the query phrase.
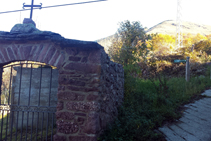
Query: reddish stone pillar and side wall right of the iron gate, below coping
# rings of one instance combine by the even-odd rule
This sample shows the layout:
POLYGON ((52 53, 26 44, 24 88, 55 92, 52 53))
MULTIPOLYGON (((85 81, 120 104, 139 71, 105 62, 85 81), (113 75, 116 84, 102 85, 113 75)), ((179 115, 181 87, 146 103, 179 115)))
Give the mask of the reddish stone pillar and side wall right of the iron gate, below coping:
POLYGON ((118 114, 124 71, 104 50, 74 52, 60 70, 55 140, 97 140, 118 114))

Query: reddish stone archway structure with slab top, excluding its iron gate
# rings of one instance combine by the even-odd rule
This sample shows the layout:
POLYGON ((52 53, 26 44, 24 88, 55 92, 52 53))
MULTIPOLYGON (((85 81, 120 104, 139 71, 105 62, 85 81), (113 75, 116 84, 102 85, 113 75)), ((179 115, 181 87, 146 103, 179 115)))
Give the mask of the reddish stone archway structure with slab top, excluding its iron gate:
POLYGON ((55 141, 97 140, 117 116, 123 101, 124 71, 99 44, 65 39, 24 23, 11 32, 0 32, 0 65, 13 61, 57 67, 55 141))

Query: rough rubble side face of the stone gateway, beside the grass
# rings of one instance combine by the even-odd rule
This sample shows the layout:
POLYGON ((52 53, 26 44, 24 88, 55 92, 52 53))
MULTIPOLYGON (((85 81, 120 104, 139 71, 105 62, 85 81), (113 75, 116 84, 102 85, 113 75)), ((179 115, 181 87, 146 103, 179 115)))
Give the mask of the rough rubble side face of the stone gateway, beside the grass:
POLYGON ((101 56, 100 125, 103 129, 118 115, 117 108, 124 98, 124 70, 120 64, 110 61, 108 55, 101 56))

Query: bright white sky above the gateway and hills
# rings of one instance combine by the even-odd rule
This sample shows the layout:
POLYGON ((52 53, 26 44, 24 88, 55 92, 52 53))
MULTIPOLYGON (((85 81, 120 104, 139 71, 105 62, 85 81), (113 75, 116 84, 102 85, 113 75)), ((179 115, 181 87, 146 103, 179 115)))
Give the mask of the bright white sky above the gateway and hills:
MULTIPOLYGON (((42 6, 79 3, 94 0, 34 0, 42 6)), ((0 12, 20 10, 31 0, 0 0, 0 12)), ((182 19, 211 25, 211 0, 181 0, 182 19)), ((0 14, 0 31, 10 31, 30 11, 0 14)), ((177 0, 107 0, 34 10, 32 19, 42 31, 59 33, 68 39, 95 41, 113 35, 119 23, 125 20, 140 21, 150 28, 165 20, 176 20, 177 0)), ((176 29, 175 29, 176 30, 176 29)))

